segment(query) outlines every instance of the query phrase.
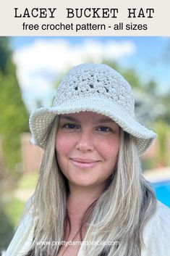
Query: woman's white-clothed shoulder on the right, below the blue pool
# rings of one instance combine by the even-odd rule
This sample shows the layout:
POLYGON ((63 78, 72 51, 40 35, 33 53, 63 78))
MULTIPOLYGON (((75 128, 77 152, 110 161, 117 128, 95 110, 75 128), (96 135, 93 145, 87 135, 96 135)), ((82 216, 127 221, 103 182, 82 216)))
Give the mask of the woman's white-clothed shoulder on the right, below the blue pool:
POLYGON ((156 212, 145 226, 141 256, 170 256, 170 208, 157 202, 156 212))

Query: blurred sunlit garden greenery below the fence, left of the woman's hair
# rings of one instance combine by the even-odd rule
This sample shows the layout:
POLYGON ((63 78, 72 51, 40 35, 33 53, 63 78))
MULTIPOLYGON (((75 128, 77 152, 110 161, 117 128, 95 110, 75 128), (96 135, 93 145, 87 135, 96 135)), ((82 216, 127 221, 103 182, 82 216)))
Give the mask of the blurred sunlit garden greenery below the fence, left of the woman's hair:
POLYGON ((25 202, 33 194, 37 181, 38 173, 29 173, 20 177, 13 189, 12 184, 9 186, 9 182, 3 186, 0 181, 0 189, 4 187, 3 191, 2 189, 0 191, 0 252, 8 247, 14 229, 22 216, 25 202))

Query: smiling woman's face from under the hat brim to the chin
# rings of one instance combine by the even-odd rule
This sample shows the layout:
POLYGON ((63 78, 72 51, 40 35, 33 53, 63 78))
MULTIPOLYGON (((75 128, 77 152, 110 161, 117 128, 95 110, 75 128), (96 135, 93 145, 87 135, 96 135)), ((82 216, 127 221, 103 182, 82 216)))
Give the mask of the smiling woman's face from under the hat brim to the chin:
POLYGON ((56 155, 69 186, 105 186, 119 153, 119 125, 95 112, 61 115, 56 155))

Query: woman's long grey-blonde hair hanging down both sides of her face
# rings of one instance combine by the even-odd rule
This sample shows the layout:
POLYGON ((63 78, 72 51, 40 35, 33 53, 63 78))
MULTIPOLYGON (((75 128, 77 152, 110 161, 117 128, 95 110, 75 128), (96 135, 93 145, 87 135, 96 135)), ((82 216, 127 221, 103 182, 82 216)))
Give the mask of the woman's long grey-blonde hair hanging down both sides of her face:
MULTIPOLYGON (((27 256, 57 255, 59 243, 51 244, 65 238, 65 227, 69 225, 69 186, 59 169, 55 151, 58 124, 59 117, 56 117, 48 131, 33 197, 34 239, 27 256), (39 241, 48 243, 39 244, 39 241)), ((86 224, 87 231, 82 238, 80 255, 140 256, 145 246, 143 229, 155 210, 156 197, 142 176, 136 140, 121 128, 119 156, 113 174, 106 182, 106 189, 82 218, 82 226, 86 224)))

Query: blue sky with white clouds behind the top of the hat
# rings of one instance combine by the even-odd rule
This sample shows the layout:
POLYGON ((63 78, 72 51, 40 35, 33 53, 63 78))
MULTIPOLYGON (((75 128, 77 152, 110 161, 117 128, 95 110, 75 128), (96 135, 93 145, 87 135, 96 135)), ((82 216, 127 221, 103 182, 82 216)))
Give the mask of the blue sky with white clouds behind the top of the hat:
POLYGON ((22 97, 30 112, 36 101, 51 106, 54 84, 69 67, 101 63, 103 58, 133 68, 143 83, 156 80, 159 93, 170 91, 170 38, 26 36, 11 37, 10 44, 22 97))

